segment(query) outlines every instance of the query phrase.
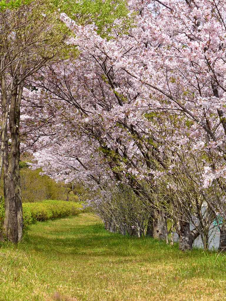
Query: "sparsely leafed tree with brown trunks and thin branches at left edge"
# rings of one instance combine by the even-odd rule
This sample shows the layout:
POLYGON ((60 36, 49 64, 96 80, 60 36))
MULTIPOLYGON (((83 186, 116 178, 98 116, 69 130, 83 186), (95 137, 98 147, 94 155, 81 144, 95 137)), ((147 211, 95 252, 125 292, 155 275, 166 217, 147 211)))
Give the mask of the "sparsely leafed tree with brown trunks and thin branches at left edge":
POLYGON ((54 19, 52 15, 47 17, 41 13, 39 2, 0 13, 0 175, 3 168, 4 236, 12 242, 21 239, 23 228, 19 175, 20 105, 26 78, 46 62, 54 61, 65 46, 65 35, 57 33, 54 19))

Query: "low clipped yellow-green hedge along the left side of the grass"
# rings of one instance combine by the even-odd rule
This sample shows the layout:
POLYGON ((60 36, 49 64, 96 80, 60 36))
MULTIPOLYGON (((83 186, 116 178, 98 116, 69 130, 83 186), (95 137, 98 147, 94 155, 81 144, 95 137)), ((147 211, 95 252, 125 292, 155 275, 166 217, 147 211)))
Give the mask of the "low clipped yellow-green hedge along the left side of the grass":
MULTIPOLYGON (((58 200, 44 200, 34 203, 23 203, 24 229, 36 221, 46 221, 66 216, 78 215, 81 204, 58 200)), ((0 200, 0 227, 4 220, 4 200, 0 200)))

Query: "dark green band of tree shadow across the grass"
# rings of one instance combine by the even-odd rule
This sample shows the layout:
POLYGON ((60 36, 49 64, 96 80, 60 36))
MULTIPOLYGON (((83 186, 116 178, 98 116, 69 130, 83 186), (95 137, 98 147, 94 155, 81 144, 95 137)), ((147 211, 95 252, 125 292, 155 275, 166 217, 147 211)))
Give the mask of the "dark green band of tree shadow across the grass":
MULTIPOLYGON (((44 226, 48 227, 48 223, 44 226)), ((158 246, 168 248, 164 242, 155 239, 137 239, 109 233, 100 223, 73 225, 67 231, 65 227, 58 228, 57 231, 52 227, 40 234, 34 234, 33 228, 18 245, 20 249, 27 252, 29 249, 35 250, 45 256, 48 256, 49 253, 55 256, 104 256, 108 258, 138 256, 139 253, 145 256, 145 254, 149 255, 150 248, 155 248, 157 252, 158 246)), ((159 256, 161 257, 161 255, 159 256)), ((156 256, 156 260, 159 256, 156 256)))

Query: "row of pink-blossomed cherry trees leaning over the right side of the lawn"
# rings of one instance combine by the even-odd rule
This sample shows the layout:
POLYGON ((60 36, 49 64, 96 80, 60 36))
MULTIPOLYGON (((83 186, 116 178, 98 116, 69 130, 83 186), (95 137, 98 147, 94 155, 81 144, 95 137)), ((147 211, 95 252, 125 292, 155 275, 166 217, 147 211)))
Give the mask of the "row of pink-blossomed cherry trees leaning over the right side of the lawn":
POLYGON ((24 78, 21 150, 52 178, 86 185, 110 231, 168 242, 175 229, 187 250, 199 235, 208 248, 215 221, 224 251, 226 1, 130 1, 119 11, 102 23, 60 14, 64 55, 24 78))

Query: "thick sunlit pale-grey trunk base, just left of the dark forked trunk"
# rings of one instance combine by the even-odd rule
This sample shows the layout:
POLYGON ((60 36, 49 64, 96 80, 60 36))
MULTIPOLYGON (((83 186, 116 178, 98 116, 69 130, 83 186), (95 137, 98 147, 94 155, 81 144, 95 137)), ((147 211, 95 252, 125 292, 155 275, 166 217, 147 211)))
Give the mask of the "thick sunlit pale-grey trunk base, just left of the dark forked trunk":
POLYGON ((164 212, 159 209, 154 209, 153 217, 154 217, 153 237, 158 238, 160 240, 166 240, 168 233, 167 233, 167 226, 166 226, 166 216, 164 215, 164 212))

